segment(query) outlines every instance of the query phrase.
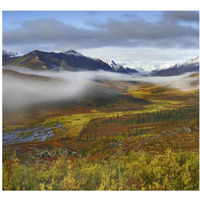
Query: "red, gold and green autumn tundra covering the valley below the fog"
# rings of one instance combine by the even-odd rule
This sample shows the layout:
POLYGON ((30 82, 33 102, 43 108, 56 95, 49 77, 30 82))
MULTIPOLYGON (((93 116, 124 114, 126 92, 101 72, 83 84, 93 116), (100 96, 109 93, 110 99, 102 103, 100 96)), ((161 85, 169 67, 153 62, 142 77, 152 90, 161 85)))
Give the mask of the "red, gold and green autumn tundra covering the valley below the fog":
POLYGON ((198 89, 95 84, 118 95, 4 112, 3 190, 199 190, 198 89))

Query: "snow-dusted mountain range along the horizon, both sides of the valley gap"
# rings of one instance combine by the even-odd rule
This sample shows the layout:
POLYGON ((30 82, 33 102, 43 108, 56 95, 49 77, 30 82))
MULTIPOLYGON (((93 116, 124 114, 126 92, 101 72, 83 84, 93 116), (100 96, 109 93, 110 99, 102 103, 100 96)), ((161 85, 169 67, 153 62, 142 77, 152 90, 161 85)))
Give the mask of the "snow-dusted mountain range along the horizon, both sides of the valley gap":
MULTIPOLYGON (((75 51, 66 52, 44 52, 39 50, 31 51, 25 55, 17 52, 3 50, 3 65, 17 66, 32 70, 68 70, 68 71, 97 71, 104 70, 117 73, 133 74, 138 71, 124 67, 113 60, 94 59, 75 51)), ((152 71, 151 76, 175 76, 185 72, 199 71, 199 57, 187 60, 182 63, 165 64, 152 71)))

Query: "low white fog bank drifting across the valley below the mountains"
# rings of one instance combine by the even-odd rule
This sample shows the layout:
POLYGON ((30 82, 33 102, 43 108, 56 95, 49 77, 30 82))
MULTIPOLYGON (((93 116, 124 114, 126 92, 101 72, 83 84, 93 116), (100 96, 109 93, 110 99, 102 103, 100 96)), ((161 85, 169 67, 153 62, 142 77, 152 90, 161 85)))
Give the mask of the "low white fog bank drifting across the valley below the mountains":
POLYGON ((150 77, 105 71, 33 71, 18 67, 4 69, 8 70, 3 73, 3 106, 9 110, 87 97, 91 85, 94 85, 92 83, 97 80, 152 82, 185 89, 198 79, 186 78, 188 73, 172 77, 150 77))

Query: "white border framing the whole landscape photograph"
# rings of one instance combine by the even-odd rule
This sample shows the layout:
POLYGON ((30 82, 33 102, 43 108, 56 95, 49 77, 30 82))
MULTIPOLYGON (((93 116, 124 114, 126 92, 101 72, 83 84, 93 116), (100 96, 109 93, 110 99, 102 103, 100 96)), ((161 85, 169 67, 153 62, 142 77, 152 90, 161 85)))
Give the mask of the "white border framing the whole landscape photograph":
MULTIPOLYGON (((1 19, 0 29, 2 38, 2 11, 5 10, 200 10, 200 3, 198 0, 1 0, 1 19)), ((1 48, 2 52, 2 43, 1 48)), ((2 60, 2 55, 0 56, 2 60)), ((1 94, 2 94, 2 72, 0 73, 1 79, 1 94)), ((0 100, 2 109, 2 98, 0 100)), ((2 115, 1 115, 2 121, 2 115)), ((2 123, 1 123, 2 128, 2 123)), ((2 130, 2 129, 1 129, 2 130)), ((1 135, 2 139, 2 135, 1 135)), ((2 140, 1 140, 2 141, 2 140)), ((2 151, 0 152, 2 159, 2 151)), ((1 169, 2 172, 2 160, 1 169)), ((1 173, 2 174, 2 173, 1 173)), ((2 176, 0 178, 2 190, 2 176)), ((1 191, 1 199, 199 199, 200 193, 198 192, 141 192, 141 191, 128 191, 128 192, 95 192, 95 191, 79 191, 79 192, 13 192, 1 191)))

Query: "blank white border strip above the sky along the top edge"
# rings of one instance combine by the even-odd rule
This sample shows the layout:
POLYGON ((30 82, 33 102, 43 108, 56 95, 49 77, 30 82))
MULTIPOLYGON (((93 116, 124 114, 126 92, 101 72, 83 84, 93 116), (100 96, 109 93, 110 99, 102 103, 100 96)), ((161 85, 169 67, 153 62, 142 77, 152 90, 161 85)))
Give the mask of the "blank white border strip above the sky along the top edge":
POLYGON ((1 0, 2 10, 199 10, 198 0, 1 0))

